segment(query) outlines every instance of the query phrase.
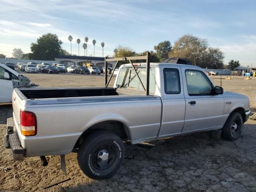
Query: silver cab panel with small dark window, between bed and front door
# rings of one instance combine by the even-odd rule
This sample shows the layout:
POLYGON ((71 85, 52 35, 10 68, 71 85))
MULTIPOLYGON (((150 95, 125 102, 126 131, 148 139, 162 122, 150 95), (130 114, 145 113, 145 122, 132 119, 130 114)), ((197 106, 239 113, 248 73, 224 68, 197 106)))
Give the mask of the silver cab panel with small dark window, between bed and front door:
POLYGON ((185 117, 185 98, 180 65, 168 64, 160 69, 162 95, 162 126, 158 138, 182 131, 185 117))

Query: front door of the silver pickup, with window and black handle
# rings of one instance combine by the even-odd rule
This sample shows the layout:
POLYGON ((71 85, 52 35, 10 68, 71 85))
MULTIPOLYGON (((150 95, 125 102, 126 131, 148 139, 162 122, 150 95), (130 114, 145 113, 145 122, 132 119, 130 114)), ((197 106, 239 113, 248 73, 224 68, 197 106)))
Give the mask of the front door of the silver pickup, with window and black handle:
POLYGON ((223 96, 214 94, 212 82, 199 68, 182 66, 182 77, 186 101, 182 132, 218 128, 224 111, 223 96))

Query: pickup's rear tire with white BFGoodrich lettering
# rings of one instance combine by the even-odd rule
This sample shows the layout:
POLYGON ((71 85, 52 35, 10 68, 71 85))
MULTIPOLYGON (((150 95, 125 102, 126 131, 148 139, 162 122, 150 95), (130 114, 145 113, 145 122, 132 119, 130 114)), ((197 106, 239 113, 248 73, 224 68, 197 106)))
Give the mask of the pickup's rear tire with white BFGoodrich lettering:
POLYGON ((77 161, 86 176, 100 180, 114 175, 119 170, 124 154, 124 143, 120 137, 112 132, 97 131, 82 142, 77 161), (102 160, 99 156, 107 159, 102 160))

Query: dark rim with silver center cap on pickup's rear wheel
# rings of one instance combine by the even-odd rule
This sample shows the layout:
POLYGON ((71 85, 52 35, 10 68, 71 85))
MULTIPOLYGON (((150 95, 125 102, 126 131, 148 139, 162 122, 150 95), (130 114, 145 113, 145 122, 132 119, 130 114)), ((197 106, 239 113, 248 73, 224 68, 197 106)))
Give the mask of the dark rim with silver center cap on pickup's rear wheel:
POLYGON ((92 165, 98 170, 106 170, 113 166, 118 157, 118 149, 111 142, 106 142, 93 150, 92 165))

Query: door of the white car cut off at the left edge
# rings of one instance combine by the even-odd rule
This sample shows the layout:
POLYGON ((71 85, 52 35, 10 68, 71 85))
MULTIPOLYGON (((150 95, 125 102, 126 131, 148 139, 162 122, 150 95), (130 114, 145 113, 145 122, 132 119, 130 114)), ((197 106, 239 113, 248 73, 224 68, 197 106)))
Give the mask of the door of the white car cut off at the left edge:
MULTIPOLYGON (((6 69, 0 66, 0 102, 11 102, 12 101, 12 78, 11 76, 7 79, 4 78, 4 72, 8 72, 6 69)), ((8 72, 9 74, 9 72, 8 72)))

